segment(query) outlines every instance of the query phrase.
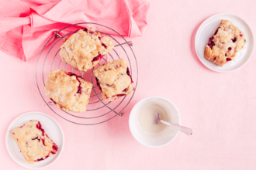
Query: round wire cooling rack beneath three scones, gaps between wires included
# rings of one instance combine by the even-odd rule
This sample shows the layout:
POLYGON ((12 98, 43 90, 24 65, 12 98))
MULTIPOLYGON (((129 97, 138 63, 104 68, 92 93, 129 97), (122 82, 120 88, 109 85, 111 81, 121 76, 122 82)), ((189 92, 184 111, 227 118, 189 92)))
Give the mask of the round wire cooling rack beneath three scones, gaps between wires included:
POLYGON ((105 102, 102 99, 102 94, 95 82, 95 76, 93 75, 94 68, 85 73, 79 73, 72 66, 61 60, 59 52, 61 50, 60 47, 63 43, 63 39, 67 39, 68 36, 77 32, 81 27, 88 26, 93 28, 96 27, 96 31, 101 32, 103 36, 108 36, 115 45, 111 52, 104 56, 97 66, 119 58, 124 58, 127 61, 127 66, 130 69, 130 74, 133 77, 133 82, 136 88, 138 82, 137 59, 131 47, 133 44, 132 42, 126 41, 126 39, 124 39, 123 36, 114 29, 98 23, 81 22, 71 26, 66 26, 64 29, 55 32, 54 36, 51 36, 44 44, 43 49, 41 49, 37 58, 36 87, 39 90, 40 96, 43 98, 45 105, 48 106, 50 110, 53 110, 55 114, 64 118, 66 121, 81 125, 102 124, 116 116, 121 117, 123 115, 123 110, 128 106, 128 104, 130 104, 130 101, 136 91, 135 88, 129 97, 120 97, 115 101, 105 102), (92 82, 93 88, 86 112, 73 113, 61 110, 44 94, 45 82, 51 70, 68 70, 72 73, 76 73, 78 76, 81 76, 84 80, 92 82))

